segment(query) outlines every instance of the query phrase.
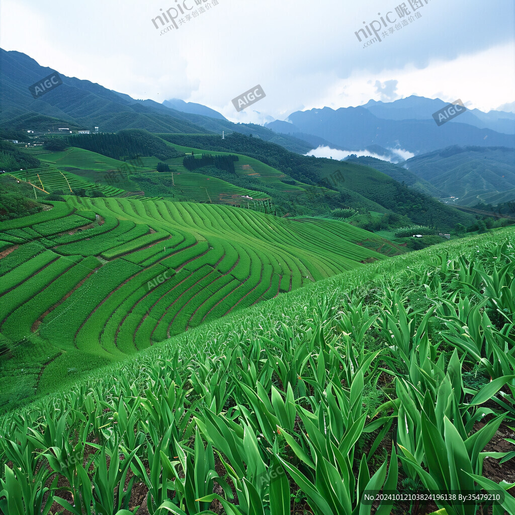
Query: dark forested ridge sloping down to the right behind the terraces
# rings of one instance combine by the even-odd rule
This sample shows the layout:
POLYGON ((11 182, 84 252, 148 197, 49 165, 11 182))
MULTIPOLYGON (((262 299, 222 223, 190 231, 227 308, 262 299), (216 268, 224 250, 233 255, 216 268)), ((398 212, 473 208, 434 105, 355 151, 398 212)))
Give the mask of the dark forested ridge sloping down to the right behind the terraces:
MULTIPOLYGON (((336 197, 323 195, 326 197, 323 199, 325 210, 320 214, 327 213, 328 207, 351 207, 362 214, 375 211, 405 217, 402 221, 398 218, 399 227, 411 222, 435 226, 439 231, 454 229, 458 223, 468 226, 474 220, 473 216, 459 212, 369 166, 349 161, 299 156, 285 151, 279 145, 237 133, 230 134, 225 140, 217 136, 200 134, 160 136, 178 148, 182 145, 187 148, 202 148, 209 152, 226 151, 245 155, 278 170, 294 181, 335 190, 338 193, 336 197), (335 177, 340 179, 335 180, 335 177)), ((311 195, 311 204, 320 202, 320 197, 311 195)), ((305 209, 302 200, 293 196, 290 202, 289 205, 284 204, 285 209, 302 214, 302 211, 297 211, 305 209)))

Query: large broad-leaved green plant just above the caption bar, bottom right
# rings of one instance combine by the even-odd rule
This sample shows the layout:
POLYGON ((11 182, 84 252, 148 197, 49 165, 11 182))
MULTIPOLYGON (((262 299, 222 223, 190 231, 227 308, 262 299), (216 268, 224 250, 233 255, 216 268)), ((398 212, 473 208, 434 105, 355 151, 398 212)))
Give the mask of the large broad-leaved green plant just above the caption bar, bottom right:
MULTIPOLYGON (((403 453, 400 458, 407 470, 411 474, 416 472, 430 490, 449 493, 478 491, 469 474, 482 474, 485 457, 502 458, 506 454, 482 452, 504 415, 490 420, 482 429, 468 436, 476 418, 467 416, 467 411, 474 409, 475 404, 471 402, 461 407, 459 380, 460 377, 451 377, 448 371, 436 399, 430 390, 422 394, 409 384, 399 388, 398 445, 403 453)), ((494 393, 495 387, 490 383, 478 393, 476 402, 486 402, 494 393)), ((450 515, 466 515, 470 510, 460 501, 441 501, 437 505, 450 515)))

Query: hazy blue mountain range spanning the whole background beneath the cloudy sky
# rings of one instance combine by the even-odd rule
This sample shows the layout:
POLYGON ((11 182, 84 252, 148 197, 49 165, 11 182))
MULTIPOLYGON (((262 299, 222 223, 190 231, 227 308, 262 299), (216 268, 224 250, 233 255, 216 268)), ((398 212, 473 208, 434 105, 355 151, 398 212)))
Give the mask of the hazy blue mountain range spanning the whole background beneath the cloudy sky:
POLYGON ((2 127, 10 130, 54 132, 62 126, 75 130, 97 126, 101 132, 145 129, 214 135, 225 131, 259 136, 303 155, 321 146, 367 150, 384 161, 362 159, 361 164, 425 194, 458 197, 463 205, 511 200, 508 197, 515 184, 515 159, 513 150, 508 150, 515 148, 515 113, 472 109, 438 127, 432 114, 446 103, 410 96, 393 102, 370 100, 363 106, 337 110, 297 111, 286 121, 262 127, 232 123, 221 113, 194 102, 138 100, 64 75, 62 85, 35 99, 28 86, 54 70, 40 66, 26 54, 3 49, 0 69, 2 127), (490 147, 498 148, 486 150, 490 147), (442 149, 447 150, 442 153, 442 149), (401 162, 404 151, 415 155, 404 164, 409 173, 385 163, 401 162))

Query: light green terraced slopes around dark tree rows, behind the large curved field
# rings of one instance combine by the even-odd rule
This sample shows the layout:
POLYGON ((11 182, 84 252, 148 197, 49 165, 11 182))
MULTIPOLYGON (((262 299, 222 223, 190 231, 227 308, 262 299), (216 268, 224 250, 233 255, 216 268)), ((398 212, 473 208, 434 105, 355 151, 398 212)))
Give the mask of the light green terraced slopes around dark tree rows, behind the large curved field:
MULTIPOLYGON (((171 146, 170 143, 166 143, 171 146)), ((180 147, 175 145, 181 152, 191 153, 195 151, 200 155, 203 150, 180 147)), ((41 160, 41 166, 37 169, 24 171, 16 174, 24 180, 41 187, 40 179, 46 191, 62 190, 69 191, 65 178, 59 173, 63 172, 72 188, 83 187, 86 190, 97 187, 107 196, 123 196, 123 192, 143 191, 146 196, 163 196, 164 198, 174 198, 181 200, 192 200, 200 202, 213 202, 224 204, 237 204, 237 199, 248 195, 253 198, 272 198, 283 195, 305 195, 309 189, 310 195, 314 193, 325 193, 336 195, 336 192, 324 187, 307 186, 302 183, 289 185, 281 179, 289 177, 258 160, 247 156, 238 156, 239 161, 235 163, 236 174, 238 176, 250 176, 254 179, 254 188, 241 187, 234 185, 227 180, 217 177, 205 177, 201 174, 204 170, 189 172, 182 165, 183 157, 171 158, 166 160, 174 171, 174 181, 170 174, 158 174, 156 165, 159 160, 155 157, 139 158, 127 162, 118 161, 107 156, 103 156, 90 150, 70 147, 62 152, 50 152, 42 149, 31 149, 30 153, 41 160), (39 174, 39 178, 37 176, 39 174), (212 182, 209 182, 209 181, 212 182), (260 190, 260 185, 267 193, 260 190), (207 190, 207 191, 206 191, 207 190), (274 195, 275 194, 275 195, 274 195), (236 196, 236 197, 233 197, 236 196), (236 200, 234 200, 236 198, 236 200)), ((216 155, 227 154, 228 152, 211 152, 216 155)), ((249 205, 252 208, 252 205, 249 205)))

